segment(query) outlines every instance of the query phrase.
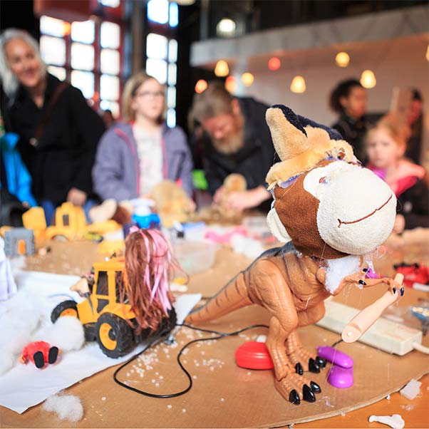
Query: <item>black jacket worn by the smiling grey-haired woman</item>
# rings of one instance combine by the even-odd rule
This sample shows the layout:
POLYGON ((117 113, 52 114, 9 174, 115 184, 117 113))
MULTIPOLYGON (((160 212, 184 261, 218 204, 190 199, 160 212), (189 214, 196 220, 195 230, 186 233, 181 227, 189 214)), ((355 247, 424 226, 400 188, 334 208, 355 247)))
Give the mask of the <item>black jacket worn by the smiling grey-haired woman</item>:
POLYGON ((60 81, 48 74, 42 108, 33 103, 24 88, 19 88, 9 108, 11 128, 21 137, 18 148, 33 178, 33 194, 39 202, 51 200, 55 205, 66 201, 72 187, 91 196, 91 169, 98 140, 105 130, 103 120, 88 105, 81 91, 68 85, 34 148, 29 142, 58 85, 60 81))

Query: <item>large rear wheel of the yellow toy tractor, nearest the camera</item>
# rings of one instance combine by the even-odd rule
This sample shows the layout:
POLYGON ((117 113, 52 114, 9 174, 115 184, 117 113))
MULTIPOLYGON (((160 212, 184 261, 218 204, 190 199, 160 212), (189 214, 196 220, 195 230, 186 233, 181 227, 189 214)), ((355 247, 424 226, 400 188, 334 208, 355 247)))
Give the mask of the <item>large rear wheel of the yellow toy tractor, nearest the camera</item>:
POLYGON ((111 313, 98 318, 96 328, 97 342, 109 358, 120 358, 134 346, 133 330, 124 319, 111 313))

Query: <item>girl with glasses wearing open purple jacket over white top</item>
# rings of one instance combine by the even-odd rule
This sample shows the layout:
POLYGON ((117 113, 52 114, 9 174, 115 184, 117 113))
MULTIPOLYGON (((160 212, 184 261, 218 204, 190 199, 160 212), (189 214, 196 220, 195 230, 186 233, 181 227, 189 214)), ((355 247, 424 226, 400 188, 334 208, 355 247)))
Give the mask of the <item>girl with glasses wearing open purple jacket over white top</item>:
POLYGON ((190 149, 181 128, 167 128, 165 107, 165 88, 155 78, 141 71, 127 81, 126 122, 103 135, 93 167, 94 188, 103 200, 144 197, 167 179, 192 195, 190 149))

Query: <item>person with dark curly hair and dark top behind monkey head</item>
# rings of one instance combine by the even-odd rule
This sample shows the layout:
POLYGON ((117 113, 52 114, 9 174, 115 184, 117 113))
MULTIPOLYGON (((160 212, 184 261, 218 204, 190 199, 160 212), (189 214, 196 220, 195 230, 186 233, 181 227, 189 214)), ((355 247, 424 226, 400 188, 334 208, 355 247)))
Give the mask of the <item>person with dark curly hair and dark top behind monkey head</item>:
POLYGON ((353 146, 356 157, 362 162, 366 157, 366 102, 366 89, 356 79, 341 81, 329 97, 329 107, 339 115, 331 128, 337 130, 353 146))

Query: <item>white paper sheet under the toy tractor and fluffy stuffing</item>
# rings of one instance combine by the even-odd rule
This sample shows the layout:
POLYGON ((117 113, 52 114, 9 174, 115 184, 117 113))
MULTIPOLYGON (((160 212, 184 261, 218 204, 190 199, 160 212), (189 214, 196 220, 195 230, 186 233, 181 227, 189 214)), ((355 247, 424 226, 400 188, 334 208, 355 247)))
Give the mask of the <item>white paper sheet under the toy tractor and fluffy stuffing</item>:
MULTIPOLYGON (((53 307, 67 299, 67 296, 81 301, 78 294, 68 289, 78 279, 78 276, 22 272, 17 276, 18 293, 28 294, 29 299, 32 295, 37 295, 43 302, 43 311, 48 318, 53 307)), ((200 299, 200 294, 186 294, 177 298, 175 302, 177 324, 182 323, 200 299)), ((63 353, 58 363, 46 366, 43 370, 37 369, 32 364, 17 364, 0 376, 0 405, 17 413, 24 413, 27 408, 41 403, 48 396, 72 386, 83 378, 126 361, 144 347, 145 344, 140 344, 127 356, 112 359, 103 354, 97 343, 86 343, 79 351, 63 353)))

